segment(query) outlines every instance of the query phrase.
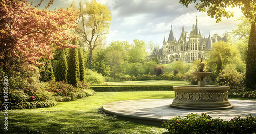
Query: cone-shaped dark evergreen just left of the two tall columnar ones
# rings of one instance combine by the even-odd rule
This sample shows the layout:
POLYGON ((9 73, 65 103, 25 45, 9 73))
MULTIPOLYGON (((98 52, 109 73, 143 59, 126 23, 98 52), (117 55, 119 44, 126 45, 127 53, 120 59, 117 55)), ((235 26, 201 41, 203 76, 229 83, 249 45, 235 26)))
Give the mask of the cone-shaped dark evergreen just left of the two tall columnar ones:
POLYGON ((56 81, 67 81, 68 64, 65 51, 62 50, 55 68, 56 81))

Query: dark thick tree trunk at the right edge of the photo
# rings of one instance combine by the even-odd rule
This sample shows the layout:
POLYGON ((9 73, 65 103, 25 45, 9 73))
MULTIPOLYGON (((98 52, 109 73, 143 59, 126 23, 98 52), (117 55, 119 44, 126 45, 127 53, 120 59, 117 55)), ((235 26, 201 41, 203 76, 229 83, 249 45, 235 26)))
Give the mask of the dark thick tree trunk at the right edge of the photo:
POLYGON ((251 32, 246 58, 246 88, 256 89, 256 23, 251 23, 251 32))

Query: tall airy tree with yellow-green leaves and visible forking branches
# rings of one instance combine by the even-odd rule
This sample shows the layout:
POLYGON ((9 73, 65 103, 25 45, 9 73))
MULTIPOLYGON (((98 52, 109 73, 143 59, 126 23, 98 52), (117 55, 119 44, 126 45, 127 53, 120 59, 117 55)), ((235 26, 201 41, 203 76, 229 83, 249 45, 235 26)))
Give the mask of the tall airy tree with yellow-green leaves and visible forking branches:
POLYGON ((85 7, 79 3, 80 19, 76 21, 78 28, 75 31, 90 50, 89 63, 92 63, 93 50, 102 45, 104 35, 108 34, 111 12, 106 5, 96 0, 86 1, 85 7))

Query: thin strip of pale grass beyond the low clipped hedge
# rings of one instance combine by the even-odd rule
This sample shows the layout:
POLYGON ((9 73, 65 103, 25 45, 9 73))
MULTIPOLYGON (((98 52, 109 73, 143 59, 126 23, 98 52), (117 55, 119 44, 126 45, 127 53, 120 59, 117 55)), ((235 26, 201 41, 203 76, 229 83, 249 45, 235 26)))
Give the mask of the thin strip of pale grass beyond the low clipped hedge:
POLYGON ((106 82, 108 85, 189 85, 189 81, 168 81, 168 80, 148 80, 148 81, 122 81, 106 82))

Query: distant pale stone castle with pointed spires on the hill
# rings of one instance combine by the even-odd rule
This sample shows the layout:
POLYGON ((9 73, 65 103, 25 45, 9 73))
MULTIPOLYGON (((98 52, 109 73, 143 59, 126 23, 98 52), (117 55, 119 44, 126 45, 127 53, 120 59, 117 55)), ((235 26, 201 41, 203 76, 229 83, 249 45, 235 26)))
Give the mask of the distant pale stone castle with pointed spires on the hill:
POLYGON ((174 61, 183 60, 184 62, 193 62, 201 57, 207 59, 207 53, 212 48, 212 43, 218 41, 227 42, 227 32, 224 37, 217 34, 208 38, 203 38, 200 30, 198 29, 197 18, 196 25, 193 24, 192 31, 189 35, 184 31, 184 26, 181 30, 180 38, 177 41, 173 35, 173 26, 171 26, 168 40, 163 41, 162 48, 154 48, 150 59, 157 58, 160 63, 173 63, 174 61))

